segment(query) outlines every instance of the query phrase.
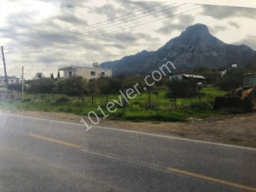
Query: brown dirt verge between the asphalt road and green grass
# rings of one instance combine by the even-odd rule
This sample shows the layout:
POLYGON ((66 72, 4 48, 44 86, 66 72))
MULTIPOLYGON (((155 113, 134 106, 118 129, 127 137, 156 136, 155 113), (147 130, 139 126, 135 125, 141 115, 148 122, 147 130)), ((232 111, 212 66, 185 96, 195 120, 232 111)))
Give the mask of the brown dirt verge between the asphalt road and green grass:
MULTIPOLYGON (((81 116, 59 112, 10 112, 37 118, 80 124, 81 116)), ((88 118, 83 117, 86 122, 88 118)), ((220 142, 256 148, 256 113, 230 114, 206 119, 188 118, 189 122, 129 122, 100 119, 98 126, 136 130, 182 138, 220 142)), ((82 123, 81 123, 82 124, 82 123)), ((88 123, 89 124, 89 123, 88 123)))

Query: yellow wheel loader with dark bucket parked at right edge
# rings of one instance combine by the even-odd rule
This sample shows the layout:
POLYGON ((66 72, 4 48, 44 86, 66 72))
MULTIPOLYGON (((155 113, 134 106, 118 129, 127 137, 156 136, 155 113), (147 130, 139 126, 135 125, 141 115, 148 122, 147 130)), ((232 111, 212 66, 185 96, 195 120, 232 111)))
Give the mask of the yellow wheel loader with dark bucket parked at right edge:
POLYGON ((256 112, 256 74, 245 74, 244 86, 232 90, 230 96, 216 97, 213 109, 234 113, 256 112))

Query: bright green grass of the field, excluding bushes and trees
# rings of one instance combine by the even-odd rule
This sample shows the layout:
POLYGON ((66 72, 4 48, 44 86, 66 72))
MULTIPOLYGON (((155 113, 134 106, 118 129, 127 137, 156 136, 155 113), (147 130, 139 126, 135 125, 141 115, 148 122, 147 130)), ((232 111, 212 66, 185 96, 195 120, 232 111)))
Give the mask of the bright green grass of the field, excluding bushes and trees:
MULTIPOLYGON (((205 118, 215 115, 212 105, 216 96, 223 96, 226 92, 219 91, 218 88, 209 87, 201 90, 201 101, 199 96, 194 98, 177 98, 177 110, 173 104, 173 99, 166 98, 166 91, 152 91, 150 94, 151 109, 149 109, 148 93, 143 92, 136 98, 129 100, 127 107, 122 108, 116 104, 117 110, 114 113, 106 109, 106 96, 95 96, 92 104, 91 96, 83 99, 67 97, 65 95, 53 94, 25 94, 23 97, 15 96, 13 99, 1 100, 0 108, 6 110, 38 110, 73 113, 80 116, 87 116, 88 112, 94 111, 100 117, 104 117, 98 106, 105 114, 109 114, 109 119, 131 120, 131 121, 186 121, 188 117, 205 118)), ((119 95, 108 95, 108 102, 117 100, 119 95)), ((112 109, 114 109, 113 107, 112 109)), ((218 113, 218 112, 217 112, 218 113)))

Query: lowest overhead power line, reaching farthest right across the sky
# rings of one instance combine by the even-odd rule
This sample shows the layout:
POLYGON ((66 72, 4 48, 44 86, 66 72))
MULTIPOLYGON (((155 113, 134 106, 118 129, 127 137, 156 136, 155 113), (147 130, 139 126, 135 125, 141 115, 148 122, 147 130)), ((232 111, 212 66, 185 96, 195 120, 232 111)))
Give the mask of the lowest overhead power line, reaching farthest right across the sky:
MULTIPOLYGON (((198 5, 198 4, 193 5, 193 6, 197 6, 197 5, 198 5)), ((111 32, 105 32, 105 33, 102 33, 102 34, 90 36, 90 37, 88 37, 88 38, 95 38, 95 37, 104 36, 104 35, 107 35, 107 34, 112 34, 112 33, 116 33, 116 32, 121 32, 121 31, 124 31, 124 30, 126 30, 126 29, 134 28, 134 27, 137 27, 137 26, 142 26, 142 25, 145 25, 145 24, 149 24, 149 23, 152 23, 152 22, 156 22, 156 21, 159 21, 159 20, 163 20, 163 19, 165 19, 165 18, 170 18, 170 17, 172 17, 172 16, 176 16, 176 15, 179 15, 179 14, 183 14, 183 13, 186 13, 186 12, 190 12, 190 11, 192 11, 192 10, 196 10, 196 9, 199 9, 199 8, 202 8, 202 7, 205 7, 205 6, 208 6, 208 5, 196 7, 196 8, 194 8, 194 9, 186 10, 186 11, 184 11, 184 12, 180 12, 180 13, 177 13, 177 14, 172 14, 172 15, 166 16, 166 17, 164 17, 164 18, 159 18, 159 19, 152 20, 152 21, 149 21, 149 22, 144 22, 144 23, 142 23, 142 24, 137 24, 137 25, 135 25, 135 26, 130 26, 130 27, 127 27, 127 28, 122 28, 122 29, 120 29, 120 30, 115 30, 115 31, 111 31, 111 32)), ((139 23, 139 22, 137 22, 137 23, 139 23)), ((73 40, 73 41, 70 41, 70 42, 75 42, 75 41, 84 40, 84 39, 88 39, 88 38, 76 39, 76 40, 73 40)), ((62 42, 61 44, 70 43, 70 42, 62 42)), ((36 48, 27 48, 26 50, 40 49, 40 48, 43 48, 43 47, 46 47, 46 46, 49 46, 49 44, 48 44, 48 45, 43 45, 43 46, 40 46, 40 47, 36 47, 36 48)), ((15 52, 20 52, 20 51, 15 51, 15 52)), ((15 52, 8 52, 8 53, 15 53, 15 52)))

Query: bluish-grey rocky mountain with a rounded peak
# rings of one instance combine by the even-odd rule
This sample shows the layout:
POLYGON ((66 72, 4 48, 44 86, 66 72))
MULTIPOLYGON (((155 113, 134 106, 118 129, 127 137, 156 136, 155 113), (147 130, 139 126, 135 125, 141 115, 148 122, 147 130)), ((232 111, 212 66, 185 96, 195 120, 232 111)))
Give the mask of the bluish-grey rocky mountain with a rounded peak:
POLYGON ((100 64, 112 68, 113 74, 148 74, 166 61, 172 61, 177 70, 192 70, 200 66, 219 68, 236 63, 243 66, 256 54, 246 45, 225 44, 212 36, 206 25, 186 28, 155 52, 146 50, 114 62, 100 64))

